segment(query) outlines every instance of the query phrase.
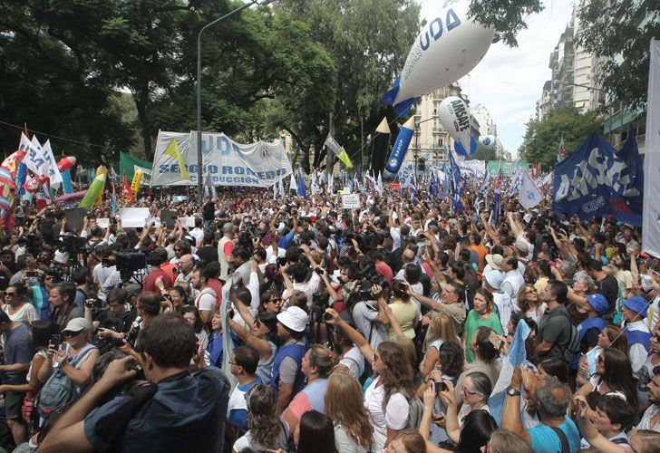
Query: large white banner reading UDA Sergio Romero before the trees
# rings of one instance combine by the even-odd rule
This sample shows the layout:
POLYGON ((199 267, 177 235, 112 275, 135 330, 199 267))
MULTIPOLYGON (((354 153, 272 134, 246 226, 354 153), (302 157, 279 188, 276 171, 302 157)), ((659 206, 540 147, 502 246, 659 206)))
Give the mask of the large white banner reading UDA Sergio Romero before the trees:
MULTIPOLYGON (((171 149, 171 148, 170 148, 171 149)), ((210 175, 214 186, 245 186, 269 188, 290 175, 291 161, 286 156, 284 141, 257 141, 248 145, 230 140, 225 134, 202 133, 202 178, 210 175)), ((166 132, 160 130, 156 142, 151 175, 152 186, 196 185, 197 132, 166 132), (181 178, 179 160, 165 154, 176 140, 189 179, 181 178)))

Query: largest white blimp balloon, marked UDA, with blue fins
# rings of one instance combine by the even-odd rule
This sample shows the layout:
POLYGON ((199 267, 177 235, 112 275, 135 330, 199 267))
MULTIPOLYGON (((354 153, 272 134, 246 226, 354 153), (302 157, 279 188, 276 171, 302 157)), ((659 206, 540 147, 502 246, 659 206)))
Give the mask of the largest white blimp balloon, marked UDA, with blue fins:
POLYGON ((383 96, 400 115, 424 94, 456 82, 488 52, 495 29, 468 18, 470 2, 461 0, 436 14, 412 44, 401 76, 383 96))

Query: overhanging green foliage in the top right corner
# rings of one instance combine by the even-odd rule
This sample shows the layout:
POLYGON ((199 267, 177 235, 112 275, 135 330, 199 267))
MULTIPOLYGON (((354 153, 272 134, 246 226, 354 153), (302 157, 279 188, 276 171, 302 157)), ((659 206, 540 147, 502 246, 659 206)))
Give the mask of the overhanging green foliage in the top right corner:
POLYGON ((643 107, 649 43, 660 36, 657 0, 587 0, 577 10, 577 42, 602 58, 598 81, 629 108, 643 107))

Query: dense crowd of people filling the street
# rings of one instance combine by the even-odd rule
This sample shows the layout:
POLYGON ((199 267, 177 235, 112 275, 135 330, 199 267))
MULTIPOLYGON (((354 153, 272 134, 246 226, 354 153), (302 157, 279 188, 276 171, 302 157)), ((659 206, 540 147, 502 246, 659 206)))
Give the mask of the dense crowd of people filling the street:
POLYGON ((660 259, 639 228, 507 196, 498 218, 484 195, 452 212, 365 188, 346 210, 228 189, 148 199, 195 226, 137 229, 110 202, 79 228, 25 203, 0 251, 0 445, 660 451, 660 259))

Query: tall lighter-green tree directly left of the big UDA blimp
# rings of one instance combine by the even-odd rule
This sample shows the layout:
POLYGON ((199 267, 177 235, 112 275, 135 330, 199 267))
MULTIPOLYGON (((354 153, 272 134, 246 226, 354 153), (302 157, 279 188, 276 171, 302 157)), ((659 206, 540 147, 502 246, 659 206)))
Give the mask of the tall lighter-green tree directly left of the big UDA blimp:
POLYGON ((274 8, 305 21, 312 40, 335 63, 332 106, 309 137, 315 149, 312 166, 324 161, 323 142, 332 129, 358 163, 362 130, 366 137, 387 112, 393 116, 380 98, 403 69, 419 32, 420 6, 412 0, 279 0, 274 8))

